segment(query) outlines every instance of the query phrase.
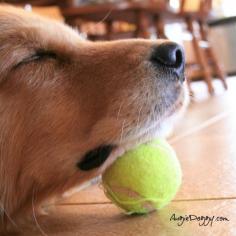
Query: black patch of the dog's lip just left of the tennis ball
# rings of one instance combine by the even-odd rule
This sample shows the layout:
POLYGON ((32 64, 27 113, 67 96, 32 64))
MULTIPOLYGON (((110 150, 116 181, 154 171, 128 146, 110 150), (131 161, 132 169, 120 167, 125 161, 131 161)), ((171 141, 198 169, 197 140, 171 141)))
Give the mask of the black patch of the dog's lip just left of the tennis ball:
POLYGON ((111 154, 114 145, 103 145, 87 152, 77 164, 80 170, 88 171, 101 166, 111 154))

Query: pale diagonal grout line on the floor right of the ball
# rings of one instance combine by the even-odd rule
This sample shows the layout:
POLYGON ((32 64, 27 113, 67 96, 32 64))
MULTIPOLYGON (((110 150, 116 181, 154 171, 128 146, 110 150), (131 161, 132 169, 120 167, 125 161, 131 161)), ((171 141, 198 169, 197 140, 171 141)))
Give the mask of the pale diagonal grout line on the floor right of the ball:
POLYGON ((210 119, 204 121, 203 123, 201 123, 200 125, 198 125, 197 127, 194 127, 192 129, 189 129, 188 131, 186 131, 185 133, 183 134, 180 134, 176 137, 173 137, 172 139, 169 140, 169 143, 170 144, 174 144, 176 142, 178 142, 179 140, 191 135, 191 134, 194 134, 194 133, 197 133, 198 131, 200 130, 203 130, 205 128, 208 128, 209 126, 221 121, 222 119, 226 118, 227 116, 229 116, 229 114, 231 113, 232 111, 225 111, 225 112, 222 112, 216 116, 213 116, 211 117, 210 119))

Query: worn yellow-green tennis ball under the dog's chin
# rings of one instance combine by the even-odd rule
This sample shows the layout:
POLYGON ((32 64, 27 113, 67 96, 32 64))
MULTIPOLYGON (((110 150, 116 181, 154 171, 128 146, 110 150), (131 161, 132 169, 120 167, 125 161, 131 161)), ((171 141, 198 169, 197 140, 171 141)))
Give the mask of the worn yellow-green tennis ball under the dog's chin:
POLYGON ((102 176, 105 195, 127 214, 145 214, 166 206, 182 179, 179 161, 163 139, 126 152, 102 176))

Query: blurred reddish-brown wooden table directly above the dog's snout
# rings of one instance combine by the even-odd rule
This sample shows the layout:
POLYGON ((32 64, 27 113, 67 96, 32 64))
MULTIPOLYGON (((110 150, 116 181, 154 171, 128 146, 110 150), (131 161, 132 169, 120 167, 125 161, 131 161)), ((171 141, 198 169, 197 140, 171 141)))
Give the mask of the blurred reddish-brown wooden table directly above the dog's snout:
MULTIPOLYGON (((155 17, 166 9, 166 1, 160 0, 158 3, 151 1, 142 2, 122 2, 117 4, 98 4, 81 7, 69 6, 62 8, 66 22, 80 28, 80 22, 92 21, 103 22, 106 26, 106 34, 103 39, 111 40, 127 37, 149 38, 149 26, 155 11, 155 17), (113 23, 117 21, 127 22, 135 26, 133 32, 126 34, 116 34, 113 30, 113 23)), ((94 35, 88 35, 95 39, 94 35)), ((99 38, 100 39, 100 38, 99 38)))

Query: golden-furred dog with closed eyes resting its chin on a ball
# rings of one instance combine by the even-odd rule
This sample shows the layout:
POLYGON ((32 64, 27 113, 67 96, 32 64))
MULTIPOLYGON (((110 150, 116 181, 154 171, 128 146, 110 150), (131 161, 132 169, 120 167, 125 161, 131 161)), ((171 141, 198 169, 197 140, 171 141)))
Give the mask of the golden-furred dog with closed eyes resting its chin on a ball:
MULTIPOLYGON (((163 135, 187 105, 184 51, 168 40, 81 40, 0 7, 2 228, 163 135)), ((14 227, 14 226, 13 226, 14 227)))

